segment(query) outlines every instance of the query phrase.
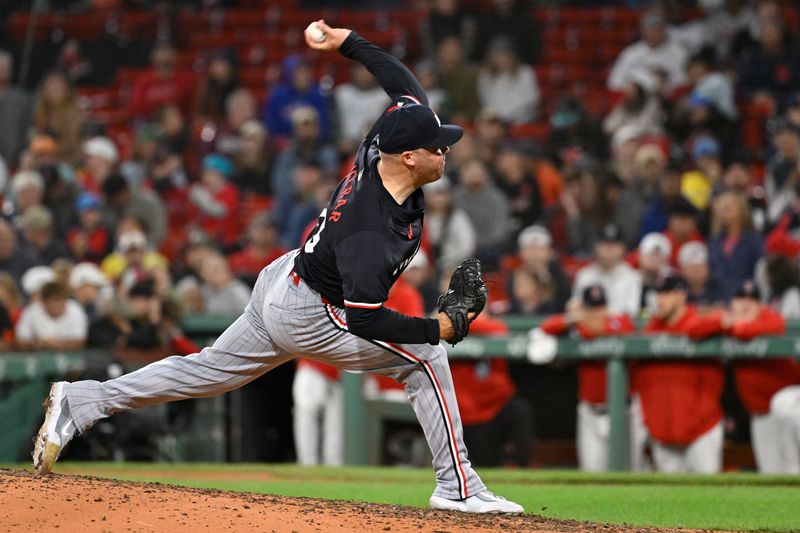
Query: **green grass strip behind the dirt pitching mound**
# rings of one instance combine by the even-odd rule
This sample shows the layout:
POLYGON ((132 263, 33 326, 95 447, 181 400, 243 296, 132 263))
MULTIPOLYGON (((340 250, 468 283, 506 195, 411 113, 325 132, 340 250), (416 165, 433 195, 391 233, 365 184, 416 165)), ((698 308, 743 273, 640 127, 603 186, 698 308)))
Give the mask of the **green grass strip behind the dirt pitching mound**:
MULTIPOLYGON (((65 463, 56 471, 244 492, 427 506, 429 469, 65 463)), ((641 526, 800 531, 800 478, 491 470, 489 488, 527 512, 641 526)))

